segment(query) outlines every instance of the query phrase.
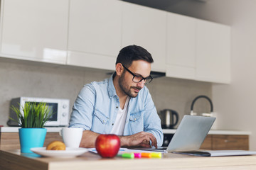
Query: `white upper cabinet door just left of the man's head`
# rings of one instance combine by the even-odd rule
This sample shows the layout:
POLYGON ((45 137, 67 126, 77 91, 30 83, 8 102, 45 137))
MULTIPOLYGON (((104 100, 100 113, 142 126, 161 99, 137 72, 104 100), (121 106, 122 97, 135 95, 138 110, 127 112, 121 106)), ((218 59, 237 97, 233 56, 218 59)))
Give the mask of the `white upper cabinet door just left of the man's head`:
POLYGON ((70 65, 112 69, 121 50, 122 1, 70 0, 70 65))

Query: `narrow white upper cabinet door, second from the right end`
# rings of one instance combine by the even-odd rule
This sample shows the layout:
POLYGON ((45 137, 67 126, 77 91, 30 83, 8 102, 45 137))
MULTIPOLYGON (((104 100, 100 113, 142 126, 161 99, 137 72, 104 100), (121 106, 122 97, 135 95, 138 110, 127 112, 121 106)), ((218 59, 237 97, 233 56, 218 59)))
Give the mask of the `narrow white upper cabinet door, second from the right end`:
POLYGON ((195 79, 196 18, 168 13, 166 77, 195 79))

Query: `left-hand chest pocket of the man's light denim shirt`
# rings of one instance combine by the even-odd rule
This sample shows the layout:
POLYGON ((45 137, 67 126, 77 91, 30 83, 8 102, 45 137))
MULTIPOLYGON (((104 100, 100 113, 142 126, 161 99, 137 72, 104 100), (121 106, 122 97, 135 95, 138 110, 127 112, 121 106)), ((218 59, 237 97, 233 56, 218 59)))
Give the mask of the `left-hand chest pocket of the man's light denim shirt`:
POLYGON ((95 109, 95 112, 92 116, 92 131, 97 133, 103 133, 106 125, 109 121, 109 118, 102 112, 95 109))

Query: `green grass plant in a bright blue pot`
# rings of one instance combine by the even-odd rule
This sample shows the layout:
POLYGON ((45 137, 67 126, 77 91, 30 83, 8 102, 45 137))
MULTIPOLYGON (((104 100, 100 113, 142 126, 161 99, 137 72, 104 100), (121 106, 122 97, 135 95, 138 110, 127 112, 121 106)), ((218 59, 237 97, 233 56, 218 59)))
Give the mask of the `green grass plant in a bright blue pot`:
POLYGON ((21 125, 18 129, 18 135, 21 145, 21 153, 32 153, 32 147, 43 147, 46 139, 46 122, 53 115, 50 113, 50 108, 46 103, 26 102, 21 109, 11 106, 11 109, 16 113, 17 120, 14 120, 21 125))

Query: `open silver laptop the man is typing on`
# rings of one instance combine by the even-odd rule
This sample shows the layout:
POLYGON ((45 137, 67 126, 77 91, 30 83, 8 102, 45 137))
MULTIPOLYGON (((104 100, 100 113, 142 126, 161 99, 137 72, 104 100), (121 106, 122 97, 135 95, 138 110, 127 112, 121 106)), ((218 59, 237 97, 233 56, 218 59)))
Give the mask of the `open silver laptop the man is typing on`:
POLYGON ((206 135, 208 135, 215 119, 213 117, 199 115, 184 115, 168 147, 129 147, 129 149, 154 152, 188 152, 198 150, 205 140, 206 135))

